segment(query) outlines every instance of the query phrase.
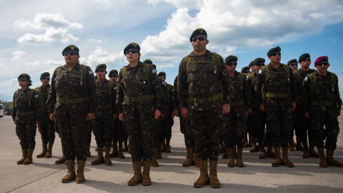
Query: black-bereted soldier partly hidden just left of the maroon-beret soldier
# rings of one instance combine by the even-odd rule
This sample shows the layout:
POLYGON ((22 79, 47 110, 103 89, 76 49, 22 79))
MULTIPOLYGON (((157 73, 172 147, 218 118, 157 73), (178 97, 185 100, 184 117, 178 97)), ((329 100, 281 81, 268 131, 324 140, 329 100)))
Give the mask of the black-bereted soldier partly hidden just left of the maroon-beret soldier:
MULTIPOLYGON (((295 60, 296 61, 296 60, 295 60)), ((306 76, 310 73, 315 72, 315 69, 310 69, 311 56, 309 53, 302 54, 299 57, 299 64, 301 68, 294 71, 294 77, 296 81, 296 89, 298 93, 298 101, 296 109, 294 111, 294 124, 295 124, 295 135, 296 135, 296 149, 303 143, 304 153, 303 158, 307 159, 310 157, 319 158, 318 153, 314 150, 314 141, 311 133, 311 122, 305 118, 305 102, 303 101, 303 83, 306 76), (307 137, 309 137, 309 144, 307 137)))

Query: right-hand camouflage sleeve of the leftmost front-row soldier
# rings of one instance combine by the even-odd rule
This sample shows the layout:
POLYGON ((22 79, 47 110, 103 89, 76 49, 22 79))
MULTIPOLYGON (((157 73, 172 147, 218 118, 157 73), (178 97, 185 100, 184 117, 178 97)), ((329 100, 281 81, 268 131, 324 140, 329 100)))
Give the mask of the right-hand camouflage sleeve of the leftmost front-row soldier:
POLYGON ((87 88, 90 98, 90 109, 89 113, 95 113, 98 107, 99 103, 99 96, 98 96, 98 88, 95 83, 94 73, 92 69, 89 66, 87 67, 87 75, 86 75, 86 81, 87 81, 87 88))

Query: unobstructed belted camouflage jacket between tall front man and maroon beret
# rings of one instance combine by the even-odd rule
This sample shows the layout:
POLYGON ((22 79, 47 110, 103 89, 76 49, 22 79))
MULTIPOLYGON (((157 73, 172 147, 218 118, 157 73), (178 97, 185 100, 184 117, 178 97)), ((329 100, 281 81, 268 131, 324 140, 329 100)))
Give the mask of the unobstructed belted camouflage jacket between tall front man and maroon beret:
POLYGON ((258 73, 258 78, 255 83, 256 98, 260 101, 260 104, 265 104, 267 108, 272 110, 279 110, 280 108, 285 110, 291 108, 291 103, 296 101, 296 83, 292 69, 289 68, 289 72, 285 70, 281 64, 278 68, 269 63, 263 68, 268 68, 268 74, 266 75, 266 82, 264 80, 263 69, 258 73), (265 101, 262 100, 262 86, 264 86, 265 101), (268 96, 280 95, 281 97, 268 96), (282 96, 283 95, 283 96, 282 96))

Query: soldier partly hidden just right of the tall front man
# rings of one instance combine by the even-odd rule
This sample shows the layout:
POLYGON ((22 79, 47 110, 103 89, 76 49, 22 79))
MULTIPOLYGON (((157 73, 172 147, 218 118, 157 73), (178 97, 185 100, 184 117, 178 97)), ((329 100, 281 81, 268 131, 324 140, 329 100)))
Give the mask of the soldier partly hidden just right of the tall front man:
POLYGON ((226 122, 225 132, 223 133, 223 140, 230 158, 228 167, 235 166, 232 148, 236 148, 236 145, 237 166, 244 167, 242 152, 246 137, 248 106, 251 102, 251 95, 247 85, 246 76, 243 73, 236 71, 237 57, 226 57, 225 64, 234 87, 234 93, 230 103, 231 110, 225 116, 228 121, 226 122))

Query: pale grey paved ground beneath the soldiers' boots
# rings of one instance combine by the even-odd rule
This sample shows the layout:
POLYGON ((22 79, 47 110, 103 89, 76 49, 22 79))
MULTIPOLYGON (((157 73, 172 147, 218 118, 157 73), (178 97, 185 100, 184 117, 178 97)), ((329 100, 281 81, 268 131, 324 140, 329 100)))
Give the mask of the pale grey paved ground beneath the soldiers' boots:
MULTIPOLYGON (((343 124, 343 117, 339 118, 343 124)), ((260 160, 258 153, 244 149, 244 168, 228 168, 227 160, 219 160, 218 177, 222 183, 219 189, 209 186, 193 188, 198 178, 199 169, 192 166, 183 168, 185 159, 183 135, 180 133, 178 119, 175 119, 171 153, 163 153, 158 160, 160 167, 152 167, 151 186, 127 186, 133 175, 131 157, 125 152, 125 159, 113 158, 113 166, 92 166, 96 158, 95 140, 92 139, 92 157, 85 166, 86 181, 62 184, 61 178, 66 174, 66 166, 55 165, 62 156, 61 142, 56 137, 53 158, 36 159, 41 150, 40 135, 37 131, 36 149, 33 164, 17 165, 21 157, 19 139, 15 134, 15 125, 9 116, 0 119, 0 192, 343 192, 343 168, 320 168, 318 159, 301 158, 301 151, 289 153, 294 168, 272 168, 272 159, 260 160)), ((340 127, 342 125, 340 124, 340 127)), ((338 136, 335 158, 343 162, 343 135, 338 136)))

